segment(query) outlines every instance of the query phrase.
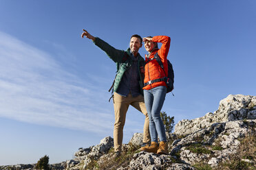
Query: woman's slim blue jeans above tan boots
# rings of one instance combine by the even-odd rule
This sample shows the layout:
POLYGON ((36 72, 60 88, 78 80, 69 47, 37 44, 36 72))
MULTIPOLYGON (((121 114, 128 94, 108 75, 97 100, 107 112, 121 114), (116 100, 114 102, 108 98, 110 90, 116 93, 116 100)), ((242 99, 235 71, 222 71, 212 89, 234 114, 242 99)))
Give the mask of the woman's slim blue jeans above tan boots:
POLYGON ((160 141, 167 141, 164 123, 162 123, 162 119, 160 117, 160 111, 164 104, 166 94, 166 86, 157 86, 150 90, 144 90, 144 100, 147 108, 147 114, 149 116, 149 132, 151 141, 156 143, 158 142, 158 136, 160 141))

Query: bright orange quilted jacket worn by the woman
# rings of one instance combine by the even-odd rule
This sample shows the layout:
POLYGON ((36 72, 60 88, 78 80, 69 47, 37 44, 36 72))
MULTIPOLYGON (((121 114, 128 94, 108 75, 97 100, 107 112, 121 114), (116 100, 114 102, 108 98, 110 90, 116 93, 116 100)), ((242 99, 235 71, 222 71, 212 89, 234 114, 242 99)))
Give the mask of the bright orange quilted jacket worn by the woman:
MULTIPOLYGON (((145 62, 147 63, 145 65, 145 79, 144 83, 149 82, 150 80, 156 80, 162 77, 167 77, 165 73, 168 73, 168 64, 167 64, 167 55, 169 52, 170 44, 171 44, 171 38, 169 36, 154 36, 152 38, 153 42, 161 42, 162 47, 160 49, 153 50, 149 56, 145 56, 145 62), (150 60, 150 58, 153 58, 155 53, 158 53, 158 56, 160 57, 162 64, 164 64, 164 71, 158 64, 156 60, 150 60)), ((157 87, 157 86, 167 86, 164 81, 162 82, 154 82, 153 84, 148 84, 147 86, 143 87, 145 90, 149 90, 151 88, 157 87)))

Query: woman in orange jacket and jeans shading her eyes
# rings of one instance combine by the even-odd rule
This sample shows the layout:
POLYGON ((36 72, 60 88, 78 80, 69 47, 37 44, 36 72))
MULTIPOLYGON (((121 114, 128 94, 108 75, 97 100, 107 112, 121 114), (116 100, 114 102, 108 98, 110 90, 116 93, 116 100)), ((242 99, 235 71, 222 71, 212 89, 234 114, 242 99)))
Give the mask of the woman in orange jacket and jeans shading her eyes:
POLYGON ((168 64, 167 55, 171 43, 169 36, 148 36, 143 38, 145 49, 149 52, 145 57, 145 80, 144 80, 144 99, 149 116, 149 132, 151 136, 151 145, 146 145, 140 150, 149 151, 156 154, 168 154, 167 137, 165 134, 164 123, 160 117, 160 111, 164 104, 165 95, 167 93, 167 84, 164 77, 167 77, 168 64), (158 49, 158 42, 162 43, 162 47, 158 49), (164 68, 153 60, 155 54, 158 53, 164 68), (160 139, 158 147, 158 136, 160 139))

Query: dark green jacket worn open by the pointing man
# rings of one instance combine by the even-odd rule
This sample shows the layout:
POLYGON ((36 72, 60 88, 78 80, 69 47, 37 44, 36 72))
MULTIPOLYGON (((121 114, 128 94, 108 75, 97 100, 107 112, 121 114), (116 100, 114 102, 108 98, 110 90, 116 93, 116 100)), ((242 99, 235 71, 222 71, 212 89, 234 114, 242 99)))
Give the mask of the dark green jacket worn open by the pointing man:
MULTIPOLYGON (((105 53, 107 53, 107 56, 111 58, 114 62, 116 62, 117 66, 117 74, 116 79, 114 82, 114 92, 118 90, 118 87, 120 85, 120 82, 122 80, 122 75, 124 75, 125 71, 127 71, 132 64, 132 56, 130 49, 127 49, 127 51, 115 49, 111 45, 109 45, 104 40, 101 40, 100 38, 96 37, 94 44, 100 47, 105 53)), ((145 66, 145 60, 140 56, 140 53, 138 53, 138 73, 140 75, 140 81, 138 82, 140 85, 140 93, 143 95, 143 81, 144 81, 144 66, 145 66)))

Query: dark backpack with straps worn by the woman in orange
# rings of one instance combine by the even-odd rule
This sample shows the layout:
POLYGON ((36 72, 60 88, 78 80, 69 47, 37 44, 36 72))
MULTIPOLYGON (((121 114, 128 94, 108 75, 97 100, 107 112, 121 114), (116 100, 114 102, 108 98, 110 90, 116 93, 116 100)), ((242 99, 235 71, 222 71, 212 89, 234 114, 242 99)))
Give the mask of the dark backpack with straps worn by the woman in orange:
MULTIPOLYGON (((162 68, 162 70, 164 71, 164 64, 162 64, 162 61, 161 61, 160 57, 158 56, 158 53, 156 53, 155 56, 153 56, 153 58, 151 58, 147 62, 149 62, 151 60, 156 60, 158 62, 158 64, 160 65, 160 67, 162 68)), ((166 74, 164 72, 164 74, 167 75, 167 76, 165 76, 163 78, 160 78, 160 79, 157 79, 157 80, 151 80, 151 83, 164 81, 167 84, 167 93, 169 93, 174 88, 174 86, 173 86, 173 84, 174 84, 174 72, 173 72, 173 65, 171 64, 171 62, 169 60, 167 60, 167 64, 168 64, 168 74, 166 74)), ((145 86, 147 84, 145 84, 145 86)))

